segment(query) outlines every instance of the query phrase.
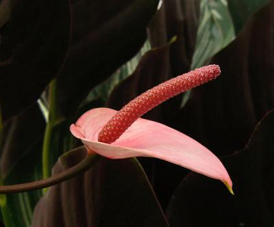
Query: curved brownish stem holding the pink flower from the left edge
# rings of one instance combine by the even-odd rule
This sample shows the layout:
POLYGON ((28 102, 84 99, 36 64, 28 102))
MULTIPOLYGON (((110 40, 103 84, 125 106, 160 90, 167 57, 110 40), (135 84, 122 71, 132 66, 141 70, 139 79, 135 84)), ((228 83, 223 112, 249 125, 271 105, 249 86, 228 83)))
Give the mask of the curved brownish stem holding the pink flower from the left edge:
POLYGON ((32 191, 35 189, 41 189, 44 187, 49 187, 52 185, 56 185, 58 183, 62 183, 63 181, 69 180, 70 178, 75 177, 77 174, 81 172, 85 172, 93 167, 96 161, 100 158, 99 155, 87 154, 86 157, 77 165, 69 168, 68 170, 64 170, 59 174, 55 174, 50 176, 47 179, 42 179, 39 181, 33 181, 30 183, 23 183, 18 185, 0 185, 0 193, 17 193, 23 191, 32 191))

